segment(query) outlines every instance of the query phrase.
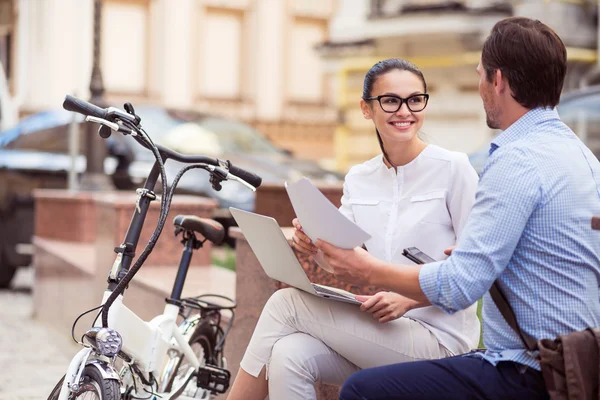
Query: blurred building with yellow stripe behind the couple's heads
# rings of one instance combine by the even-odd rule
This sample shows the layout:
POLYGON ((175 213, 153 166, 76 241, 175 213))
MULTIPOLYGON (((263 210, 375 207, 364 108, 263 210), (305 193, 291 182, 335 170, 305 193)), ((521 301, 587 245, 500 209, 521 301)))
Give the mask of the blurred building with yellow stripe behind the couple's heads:
POLYGON ((340 126, 336 162, 341 170, 380 152, 371 121, 359 108, 366 71, 390 57, 422 68, 431 99, 425 139, 472 153, 494 132, 485 124, 478 93, 484 39, 499 19, 540 19, 561 36, 568 51, 565 91, 594 83, 598 68, 598 0, 343 0, 319 46, 328 73, 335 74, 340 126))

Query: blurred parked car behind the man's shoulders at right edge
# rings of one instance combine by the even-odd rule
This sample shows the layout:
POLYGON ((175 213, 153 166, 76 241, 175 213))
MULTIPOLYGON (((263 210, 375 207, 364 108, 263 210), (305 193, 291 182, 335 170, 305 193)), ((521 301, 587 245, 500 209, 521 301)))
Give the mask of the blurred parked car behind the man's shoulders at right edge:
MULTIPOLYGON (((589 86, 564 94, 558 105, 560 118, 600 158, 600 85, 589 86)), ((489 143, 469 155, 478 174, 488 158, 489 143)))

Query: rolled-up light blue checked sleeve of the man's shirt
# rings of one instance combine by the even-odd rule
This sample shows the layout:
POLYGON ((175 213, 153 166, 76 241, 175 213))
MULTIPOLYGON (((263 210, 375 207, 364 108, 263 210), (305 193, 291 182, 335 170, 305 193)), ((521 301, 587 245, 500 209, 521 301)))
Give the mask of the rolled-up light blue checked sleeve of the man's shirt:
POLYGON ((480 299, 508 265, 541 196, 541 176, 526 149, 492 153, 452 256, 421 268, 429 301, 452 314, 480 299))

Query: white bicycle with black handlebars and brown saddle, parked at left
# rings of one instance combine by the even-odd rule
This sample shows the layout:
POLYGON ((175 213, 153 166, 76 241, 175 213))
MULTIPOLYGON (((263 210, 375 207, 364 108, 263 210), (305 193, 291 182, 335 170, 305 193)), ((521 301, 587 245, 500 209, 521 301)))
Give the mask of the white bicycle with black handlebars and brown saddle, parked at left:
POLYGON ((164 227, 177 183, 185 172, 195 168, 208 171, 210 182, 216 190, 220 190, 221 183, 226 180, 234 180, 256 190, 262 182, 261 178, 233 166, 230 161, 182 155, 154 144, 142 129, 141 118, 135 114, 130 103, 125 104, 125 111, 115 107, 103 109, 66 96, 63 107, 85 115, 88 122, 100 124, 99 134, 103 138, 108 138, 112 131, 130 135, 152 151, 155 163, 144 188, 137 190, 135 210, 123 244, 114 249, 117 255, 108 275, 108 287, 101 305, 88 311, 100 309, 100 313, 93 327, 78 341, 83 349, 73 357, 67 373, 48 399, 191 400, 209 399, 214 394, 224 393, 229 387, 231 375, 226 369, 223 346, 233 324, 236 304, 231 299, 217 295, 181 299, 193 251, 206 240, 216 244, 223 240, 225 232, 218 222, 193 216, 175 218, 175 233, 182 234, 184 251, 162 315, 149 322, 143 321, 123 304, 123 295, 154 248, 164 227), (189 164, 179 171, 170 189, 167 188, 164 169, 164 163, 169 159, 189 164), (153 190, 159 177, 162 181, 162 197, 158 223, 143 252, 131 266, 150 202, 157 199, 153 190), (196 233, 204 240, 199 240, 196 233), (214 299, 225 300, 226 303, 218 304, 214 299), (224 310, 229 311, 231 316, 228 326, 222 329, 221 311, 224 310), (182 318, 179 324, 178 316, 182 318))

